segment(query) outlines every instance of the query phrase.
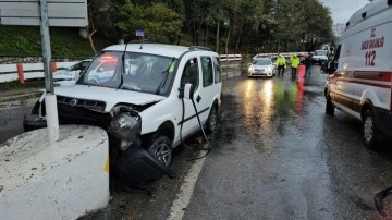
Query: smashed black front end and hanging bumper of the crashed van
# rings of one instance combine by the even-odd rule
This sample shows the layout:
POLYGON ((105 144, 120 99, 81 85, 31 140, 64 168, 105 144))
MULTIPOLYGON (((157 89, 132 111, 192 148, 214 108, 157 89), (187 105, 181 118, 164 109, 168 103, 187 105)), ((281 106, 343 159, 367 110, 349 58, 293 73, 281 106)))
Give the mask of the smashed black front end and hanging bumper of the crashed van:
MULTIPOLYGON (((57 89, 62 94, 61 88, 57 89)), ((168 166, 142 147, 139 111, 157 101, 140 106, 119 103, 111 107, 109 112, 105 111, 107 108, 105 101, 61 95, 57 96, 57 101, 60 125, 89 124, 100 126, 108 132, 111 171, 130 186, 143 187, 145 183, 162 175, 174 175, 168 166)), ((47 126, 45 91, 35 103, 32 115, 25 117, 23 125, 25 132, 47 126)))

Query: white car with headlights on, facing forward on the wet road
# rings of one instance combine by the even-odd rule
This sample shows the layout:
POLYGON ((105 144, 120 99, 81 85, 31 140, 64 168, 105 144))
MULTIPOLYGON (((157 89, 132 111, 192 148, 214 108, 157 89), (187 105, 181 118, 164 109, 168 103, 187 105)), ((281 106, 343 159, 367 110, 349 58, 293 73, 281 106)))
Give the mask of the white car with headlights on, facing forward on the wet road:
POLYGON ((270 58, 257 58, 249 63, 248 77, 267 76, 273 77, 277 74, 277 66, 270 58))

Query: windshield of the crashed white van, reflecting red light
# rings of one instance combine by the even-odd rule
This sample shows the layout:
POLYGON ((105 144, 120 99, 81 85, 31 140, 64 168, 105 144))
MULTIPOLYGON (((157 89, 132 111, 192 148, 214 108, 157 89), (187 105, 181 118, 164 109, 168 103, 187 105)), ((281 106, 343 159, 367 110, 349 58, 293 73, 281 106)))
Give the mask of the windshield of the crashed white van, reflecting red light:
POLYGON ((91 61, 77 84, 167 96, 174 80, 175 62, 174 58, 156 54, 103 51, 91 61))

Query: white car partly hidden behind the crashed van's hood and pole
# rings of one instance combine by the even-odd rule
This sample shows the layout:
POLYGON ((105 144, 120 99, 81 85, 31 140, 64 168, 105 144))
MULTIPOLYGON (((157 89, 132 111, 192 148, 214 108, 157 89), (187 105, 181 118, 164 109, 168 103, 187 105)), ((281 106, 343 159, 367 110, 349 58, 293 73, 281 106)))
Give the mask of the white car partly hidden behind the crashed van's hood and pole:
POLYGON ((53 85, 64 86, 75 84, 79 77, 81 72, 88 66, 91 59, 82 60, 64 70, 59 70, 53 73, 53 85))

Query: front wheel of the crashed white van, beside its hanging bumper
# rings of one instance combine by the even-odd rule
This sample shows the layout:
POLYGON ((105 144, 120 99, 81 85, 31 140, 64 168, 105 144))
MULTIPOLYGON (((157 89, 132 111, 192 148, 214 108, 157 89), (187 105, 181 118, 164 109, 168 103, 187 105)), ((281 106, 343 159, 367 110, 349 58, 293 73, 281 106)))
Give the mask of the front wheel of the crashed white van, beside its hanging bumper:
POLYGON ((147 147, 147 151, 160 162, 169 167, 173 157, 170 138, 166 135, 158 134, 155 135, 152 139, 154 140, 147 147))

